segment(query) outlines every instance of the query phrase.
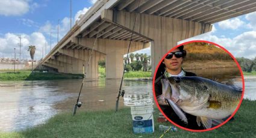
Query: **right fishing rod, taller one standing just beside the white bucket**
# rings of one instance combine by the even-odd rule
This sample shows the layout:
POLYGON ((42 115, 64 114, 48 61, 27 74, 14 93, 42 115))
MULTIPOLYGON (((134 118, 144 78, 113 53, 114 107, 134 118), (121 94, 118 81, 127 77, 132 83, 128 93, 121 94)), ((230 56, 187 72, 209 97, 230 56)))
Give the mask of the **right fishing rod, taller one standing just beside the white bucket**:
MULTIPOLYGON (((140 0, 141 1, 141 0, 140 0)), ((138 8, 140 7, 140 1, 139 1, 139 6, 138 8)), ((130 47, 131 47, 131 40, 133 39, 133 34, 134 34, 134 26, 135 26, 135 23, 136 23, 136 19, 137 19, 137 14, 135 14, 135 20, 134 20, 134 24, 133 24, 133 31, 131 32, 131 37, 130 37, 130 43, 129 43, 129 46, 128 46, 128 52, 127 52, 127 55, 126 55, 126 59, 128 59, 128 54, 129 54, 129 51, 130 51, 130 47)), ((123 97, 123 95, 125 95, 125 90, 122 90, 122 84, 123 84, 123 77, 124 77, 124 74, 125 74, 125 68, 126 68, 126 64, 125 64, 125 67, 123 67, 123 76, 122 76, 122 80, 121 80, 121 84, 120 84, 120 88, 119 88, 119 93, 116 97, 116 112, 118 110, 118 105, 119 105, 119 98, 120 96, 123 97)))

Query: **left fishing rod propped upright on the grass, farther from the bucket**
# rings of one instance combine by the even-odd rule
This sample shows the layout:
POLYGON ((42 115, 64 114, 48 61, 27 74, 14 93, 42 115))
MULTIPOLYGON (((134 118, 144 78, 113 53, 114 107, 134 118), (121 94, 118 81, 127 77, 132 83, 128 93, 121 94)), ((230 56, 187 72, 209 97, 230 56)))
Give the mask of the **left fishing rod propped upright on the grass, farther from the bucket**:
POLYGON ((84 80, 86 79, 86 74, 87 74, 87 70, 89 68, 89 65, 90 65, 90 60, 92 58, 92 53, 93 53, 93 50, 94 50, 94 47, 95 47, 95 43, 96 43, 96 40, 98 38, 98 35, 99 35, 99 32, 97 34, 97 37, 95 38, 95 41, 93 43, 93 47, 92 47, 92 52, 90 53, 90 56, 89 56, 89 61, 87 63, 87 66, 86 66, 86 70, 84 71, 84 64, 83 64, 83 74, 84 74, 84 78, 83 78, 83 82, 81 84, 81 88, 80 88, 80 92, 78 94, 78 97, 77 97, 77 100, 76 100, 76 104, 73 106, 73 116, 75 115, 76 113, 76 110, 77 110, 77 107, 81 107, 82 106, 82 102, 79 101, 79 98, 80 98, 80 94, 81 94, 81 91, 82 91, 82 88, 83 88, 83 85, 84 85, 84 80))

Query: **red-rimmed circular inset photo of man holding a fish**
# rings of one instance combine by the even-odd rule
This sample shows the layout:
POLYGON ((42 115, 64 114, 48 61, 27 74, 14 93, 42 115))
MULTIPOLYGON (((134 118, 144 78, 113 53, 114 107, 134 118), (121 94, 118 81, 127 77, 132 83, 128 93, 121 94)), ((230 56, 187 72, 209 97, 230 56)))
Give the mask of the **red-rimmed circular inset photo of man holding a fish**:
POLYGON ((240 65, 223 47, 189 41, 160 60, 153 92, 158 109, 177 127, 208 131, 236 121, 245 82, 240 65))

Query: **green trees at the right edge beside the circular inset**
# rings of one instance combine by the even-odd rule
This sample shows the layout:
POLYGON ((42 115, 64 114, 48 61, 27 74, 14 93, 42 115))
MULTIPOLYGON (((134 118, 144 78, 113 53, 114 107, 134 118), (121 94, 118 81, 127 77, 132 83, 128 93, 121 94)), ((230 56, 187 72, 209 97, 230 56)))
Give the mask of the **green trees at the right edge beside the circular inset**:
POLYGON ((256 71, 256 57, 254 59, 248 59, 248 58, 236 58, 237 62, 239 62, 240 67, 243 71, 251 72, 256 71))

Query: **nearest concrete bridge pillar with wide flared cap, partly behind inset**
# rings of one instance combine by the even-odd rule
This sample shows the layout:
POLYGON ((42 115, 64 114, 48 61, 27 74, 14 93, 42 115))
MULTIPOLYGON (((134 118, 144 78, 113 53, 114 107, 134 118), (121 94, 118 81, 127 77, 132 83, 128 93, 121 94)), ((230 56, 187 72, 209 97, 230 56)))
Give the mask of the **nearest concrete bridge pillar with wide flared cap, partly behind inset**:
POLYGON ((128 31, 133 30, 136 20, 134 32, 152 40, 152 74, 163 55, 176 46, 178 41, 204 34, 212 28, 210 24, 126 11, 104 10, 101 18, 128 31))

